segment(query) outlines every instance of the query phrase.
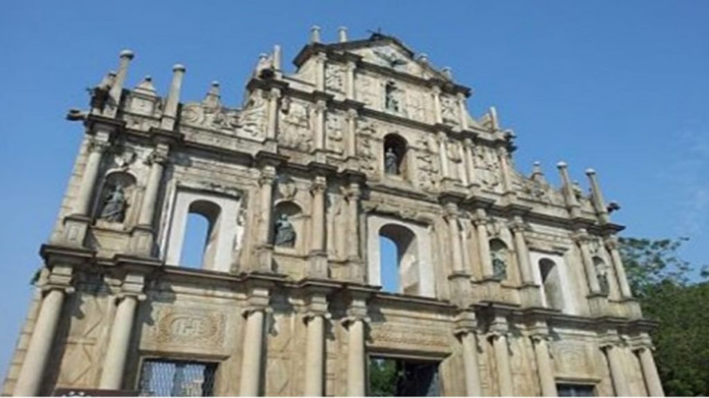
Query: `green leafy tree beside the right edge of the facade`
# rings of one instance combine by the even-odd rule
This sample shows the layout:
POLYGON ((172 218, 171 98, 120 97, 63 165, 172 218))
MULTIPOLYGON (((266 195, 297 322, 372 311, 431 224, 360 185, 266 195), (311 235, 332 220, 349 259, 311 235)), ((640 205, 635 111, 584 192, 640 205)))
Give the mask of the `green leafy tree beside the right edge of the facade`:
POLYGON ((652 341, 665 394, 709 396, 708 273, 679 257, 686 240, 623 238, 620 254, 644 317, 659 322, 652 341))

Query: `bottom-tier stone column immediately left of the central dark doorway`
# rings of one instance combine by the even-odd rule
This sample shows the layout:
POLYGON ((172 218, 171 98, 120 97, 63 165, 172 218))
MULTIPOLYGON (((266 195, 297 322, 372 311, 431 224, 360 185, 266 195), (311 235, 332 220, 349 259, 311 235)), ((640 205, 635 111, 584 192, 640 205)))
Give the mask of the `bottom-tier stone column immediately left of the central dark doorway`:
POLYGON ((364 397, 367 394, 367 353, 364 349, 364 328, 367 317, 367 302, 355 297, 350 303, 345 318, 347 338, 347 396, 364 397))

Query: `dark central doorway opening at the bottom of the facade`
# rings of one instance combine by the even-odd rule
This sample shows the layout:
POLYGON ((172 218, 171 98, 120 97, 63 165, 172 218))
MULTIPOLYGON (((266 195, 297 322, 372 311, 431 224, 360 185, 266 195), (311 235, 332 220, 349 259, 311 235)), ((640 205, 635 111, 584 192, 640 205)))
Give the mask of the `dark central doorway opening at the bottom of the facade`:
POLYGON ((369 357, 369 397, 440 397, 434 360, 369 357))

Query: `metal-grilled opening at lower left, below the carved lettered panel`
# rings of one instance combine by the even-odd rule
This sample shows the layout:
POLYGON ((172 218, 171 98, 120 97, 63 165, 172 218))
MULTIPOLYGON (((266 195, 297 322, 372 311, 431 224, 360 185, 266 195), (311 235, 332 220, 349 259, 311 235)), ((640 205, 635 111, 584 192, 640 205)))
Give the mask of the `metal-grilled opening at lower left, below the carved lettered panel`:
POLYGON ((211 397, 215 363, 143 360, 138 388, 143 397, 211 397))

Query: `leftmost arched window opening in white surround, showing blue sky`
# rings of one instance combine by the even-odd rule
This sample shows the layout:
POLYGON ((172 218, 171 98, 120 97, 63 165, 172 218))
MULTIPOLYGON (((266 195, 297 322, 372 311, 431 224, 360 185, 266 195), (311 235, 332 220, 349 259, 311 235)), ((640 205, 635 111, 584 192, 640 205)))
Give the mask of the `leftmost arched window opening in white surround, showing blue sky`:
POLYGON ((196 200, 189 205, 180 265, 213 268, 220 212, 218 205, 207 200, 196 200))

